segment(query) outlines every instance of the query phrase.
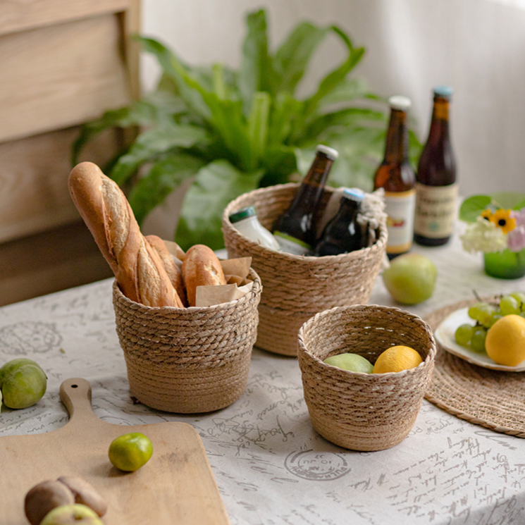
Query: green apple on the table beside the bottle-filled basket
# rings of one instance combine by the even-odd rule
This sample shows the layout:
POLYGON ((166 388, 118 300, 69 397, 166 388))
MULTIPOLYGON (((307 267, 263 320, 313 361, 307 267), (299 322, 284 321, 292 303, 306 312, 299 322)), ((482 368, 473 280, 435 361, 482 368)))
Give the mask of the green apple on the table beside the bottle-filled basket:
POLYGON ((393 299, 401 304, 419 304, 429 299, 436 287, 438 269, 421 254, 403 254, 390 261, 383 282, 393 299))

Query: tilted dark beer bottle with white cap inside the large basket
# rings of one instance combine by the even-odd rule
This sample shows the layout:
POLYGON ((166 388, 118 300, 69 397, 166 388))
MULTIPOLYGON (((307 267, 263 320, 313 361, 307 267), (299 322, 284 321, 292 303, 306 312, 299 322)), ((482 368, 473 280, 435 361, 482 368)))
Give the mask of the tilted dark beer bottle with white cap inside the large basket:
POLYGON ((288 209, 273 223, 272 233, 281 250, 295 255, 311 252, 316 242, 316 208, 323 196, 328 173, 338 152, 319 145, 307 175, 302 180, 288 209))

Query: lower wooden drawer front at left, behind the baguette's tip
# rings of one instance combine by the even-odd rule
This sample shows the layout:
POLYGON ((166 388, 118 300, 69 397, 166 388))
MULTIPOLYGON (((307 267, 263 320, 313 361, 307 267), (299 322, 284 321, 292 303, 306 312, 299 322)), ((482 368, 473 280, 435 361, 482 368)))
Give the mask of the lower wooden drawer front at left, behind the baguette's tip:
MULTIPOLYGON (((76 137, 78 128, 68 128, 0 144, 0 242, 80 218, 67 184, 76 137)), ((83 157, 104 166, 116 150, 116 132, 108 131, 83 157)))

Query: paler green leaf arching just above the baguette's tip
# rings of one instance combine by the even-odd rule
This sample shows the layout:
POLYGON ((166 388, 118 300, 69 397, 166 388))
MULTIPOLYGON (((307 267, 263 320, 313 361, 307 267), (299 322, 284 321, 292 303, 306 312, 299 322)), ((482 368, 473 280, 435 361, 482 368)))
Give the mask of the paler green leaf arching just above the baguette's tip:
POLYGON ((142 163, 154 159, 156 155, 174 147, 189 148, 205 140, 206 132, 202 128, 166 122, 159 128, 141 133, 128 153, 118 159, 110 176, 118 185, 123 185, 142 163))

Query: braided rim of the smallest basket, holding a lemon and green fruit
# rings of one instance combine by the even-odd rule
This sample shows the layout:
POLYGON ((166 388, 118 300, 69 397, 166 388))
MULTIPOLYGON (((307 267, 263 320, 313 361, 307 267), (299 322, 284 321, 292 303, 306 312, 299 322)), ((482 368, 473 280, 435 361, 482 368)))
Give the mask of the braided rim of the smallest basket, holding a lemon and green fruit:
POLYGON ((398 378, 398 377, 402 377, 402 376, 405 376, 405 375, 409 376, 409 375, 412 375, 414 373, 418 373, 418 371, 420 369, 426 369, 429 366, 433 367, 434 359, 436 359, 436 352, 437 352, 436 340, 434 339, 433 332, 432 332, 431 328, 428 326, 428 324, 423 319, 421 319, 421 317, 417 316, 416 314, 411 314, 409 311, 406 311, 406 310, 403 310, 403 309, 400 309, 400 308, 397 308, 397 307, 387 307, 387 306, 384 306, 384 305, 381 305, 381 304, 352 304, 350 306, 333 307, 333 308, 328 309, 328 310, 320 311, 318 314, 316 314, 313 317, 311 317, 310 319, 308 319, 308 321, 306 321, 301 326, 301 328, 299 328, 299 333, 297 335, 297 340, 298 340, 298 350, 297 350, 297 352, 300 352, 305 357, 307 357, 311 361, 315 362, 316 366, 319 366, 319 367, 321 367, 321 369, 325 369, 326 371, 329 371, 331 369, 332 370, 333 369, 337 369, 338 371, 341 371, 343 373, 349 374, 349 376, 359 376, 359 378, 362 378, 363 381, 378 381, 378 379, 381 379, 381 378, 389 378, 389 377, 392 377, 392 376, 395 376, 396 378, 398 378), (312 354, 310 352, 310 350, 308 350, 307 347, 304 345, 304 338, 303 338, 304 332, 307 331, 307 329, 312 324, 318 322, 319 319, 321 319, 323 317, 326 317, 326 316, 330 316, 331 314, 334 314, 335 311, 342 311, 342 310, 348 311, 348 310, 352 310, 352 309, 369 309, 369 308, 381 309, 383 311, 401 312, 402 314, 407 315, 410 318, 414 319, 415 321, 421 323, 421 325, 424 326, 426 332, 428 333, 428 336, 429 336, 429 339, 430 339, 430 343, 431 343, 430 350, 428 351, 428 355, 426 356, 424 361, 421 362, 418 366, 414 367, 413 369, 402 370, 400 372, 385 372, 385 373, 376 373, 376 374, 374 374, 374 373, 364 373, 364 372, 354 372, 352 370, 340 369, 337 366, 333 366, 331 364, 327 364, 327 363, 321 361, 321 359, 319 359, 319 357, 316 357, 314 354, 312 354))

